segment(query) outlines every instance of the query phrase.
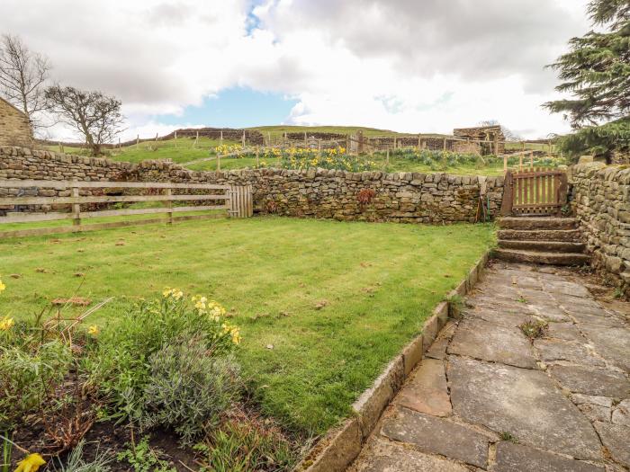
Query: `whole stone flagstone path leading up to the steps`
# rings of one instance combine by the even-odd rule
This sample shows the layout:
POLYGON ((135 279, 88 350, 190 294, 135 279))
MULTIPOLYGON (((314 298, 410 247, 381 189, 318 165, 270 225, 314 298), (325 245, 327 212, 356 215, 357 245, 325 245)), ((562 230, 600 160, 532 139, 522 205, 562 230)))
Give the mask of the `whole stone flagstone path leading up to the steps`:
POLYGON ((554 272, 489 269, 348 470, 629 470, 630 304, 554 272))

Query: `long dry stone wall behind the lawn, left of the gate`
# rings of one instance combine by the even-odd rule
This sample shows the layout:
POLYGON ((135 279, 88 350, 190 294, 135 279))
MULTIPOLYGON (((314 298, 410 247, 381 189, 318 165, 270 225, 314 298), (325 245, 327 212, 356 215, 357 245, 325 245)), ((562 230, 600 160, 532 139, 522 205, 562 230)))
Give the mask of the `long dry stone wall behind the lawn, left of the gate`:
POLYGON ((496 215, 503 195, 502 177, 324 169, 193 172, 164 161, 132 165, 21 147, 0 147, 0 179, 250 183, 259 212, 409 223, 472 222, 482 189, 487 192, 484 204, 496 215))

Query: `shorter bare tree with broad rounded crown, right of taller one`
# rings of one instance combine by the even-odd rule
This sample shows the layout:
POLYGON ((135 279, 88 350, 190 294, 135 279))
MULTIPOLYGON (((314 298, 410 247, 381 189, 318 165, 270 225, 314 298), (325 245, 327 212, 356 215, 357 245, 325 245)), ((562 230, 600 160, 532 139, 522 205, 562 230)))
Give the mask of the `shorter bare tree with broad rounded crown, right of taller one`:
POLYGON ((122 130, 121 101, 115 97, 60 85, 48 87, 45 97, 49 110, 85 138, 94 156, 122 130))

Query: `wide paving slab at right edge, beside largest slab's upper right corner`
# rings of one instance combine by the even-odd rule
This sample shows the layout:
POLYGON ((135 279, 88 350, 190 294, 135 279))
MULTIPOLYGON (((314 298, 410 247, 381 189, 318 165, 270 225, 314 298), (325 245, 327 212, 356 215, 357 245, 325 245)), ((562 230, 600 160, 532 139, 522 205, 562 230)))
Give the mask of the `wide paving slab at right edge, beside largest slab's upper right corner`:
POLYGON ((563 387, 575 393, 613 398, 630 397, 630 381, 624 374, 614 370, 553 365, 549 367, 549 373, 563 387))

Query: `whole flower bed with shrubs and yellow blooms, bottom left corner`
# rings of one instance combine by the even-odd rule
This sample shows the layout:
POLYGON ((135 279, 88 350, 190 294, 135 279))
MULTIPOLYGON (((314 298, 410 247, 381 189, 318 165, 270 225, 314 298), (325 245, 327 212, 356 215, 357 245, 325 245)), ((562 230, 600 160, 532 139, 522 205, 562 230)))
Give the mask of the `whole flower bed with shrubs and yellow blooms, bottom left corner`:
POLYGON ((13 462, 20 472, 47 463, 166 472, 177 469, 175 459, 190 458, 208 470, 293 464, 282 432, 242 413, 244 379, 233 357, 241 336, 220 304, 167 288, 129 307, 115 325, 85 326, 94 311, 66 317, 61 307, 31 321, 0 319, 3 470, 13 462), (85 439, 95 439, 97 423, 124 439, 94 453, 85 439), (166 456, 149 441, 151 432, 184 449, 166 456))

